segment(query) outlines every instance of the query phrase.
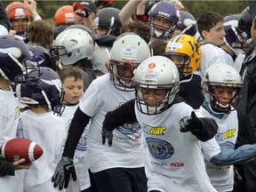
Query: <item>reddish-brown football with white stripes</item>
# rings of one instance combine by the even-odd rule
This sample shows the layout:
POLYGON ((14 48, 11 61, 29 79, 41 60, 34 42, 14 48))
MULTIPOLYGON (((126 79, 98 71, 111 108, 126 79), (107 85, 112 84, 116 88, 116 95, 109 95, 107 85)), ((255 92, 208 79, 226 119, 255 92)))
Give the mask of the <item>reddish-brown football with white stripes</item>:
POLYGON ((36 144, 35 141, 24 138, 6 141, 0 147, 0 152, 10 162, 16 162, 21 158, 25 158, 25 164, 36 161, 44 153, 43 148, 36 144))

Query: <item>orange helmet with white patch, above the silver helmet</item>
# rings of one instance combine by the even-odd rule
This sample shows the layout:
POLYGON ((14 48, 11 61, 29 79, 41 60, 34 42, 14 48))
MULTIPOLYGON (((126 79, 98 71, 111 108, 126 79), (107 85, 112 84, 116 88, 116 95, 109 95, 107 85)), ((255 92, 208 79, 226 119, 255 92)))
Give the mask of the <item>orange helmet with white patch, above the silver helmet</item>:
POLYGON ((55 26, 61 24, 75 24, 75 13, 72 5, 61 6, 54 15, 55 26))

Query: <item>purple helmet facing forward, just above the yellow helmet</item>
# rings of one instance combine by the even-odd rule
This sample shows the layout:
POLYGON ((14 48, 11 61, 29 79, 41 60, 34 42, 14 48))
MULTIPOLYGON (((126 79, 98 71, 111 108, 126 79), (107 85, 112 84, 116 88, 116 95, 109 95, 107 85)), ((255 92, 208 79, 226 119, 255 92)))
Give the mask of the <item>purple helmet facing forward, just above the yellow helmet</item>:
POLYGON ((161 1, 150 9, 148 12, 148 25, 150 27, 151 36, 156 38, 168 39, 172 37, 175 29, 177 28, 177 23, 180 20, 180 11, 172 2, 161 1), (171 22, 171 28, 164 28, 162 26, 154 24, 154 19, 156 17, 164 18, 171 22), (163 32, 157 31, 157 29, 163 30, 163 32))

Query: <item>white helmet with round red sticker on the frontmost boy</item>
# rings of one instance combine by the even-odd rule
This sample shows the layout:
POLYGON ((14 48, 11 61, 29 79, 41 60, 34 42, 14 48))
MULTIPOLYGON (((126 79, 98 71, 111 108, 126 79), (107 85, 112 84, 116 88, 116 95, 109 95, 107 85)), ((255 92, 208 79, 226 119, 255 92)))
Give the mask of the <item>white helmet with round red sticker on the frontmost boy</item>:
POLYGON ((180 76, 172 60, 164 56, 153 56, 144 60, 135 70, 132 78, 135 88, 136 104, 140 112, 147 115, 156 115, 164 112, 175 94, 180 89, 180 76), (164 100, 155 100, 156 107, 149 107, 148 102, 142 98, 142 89, 166 89, 164 100))

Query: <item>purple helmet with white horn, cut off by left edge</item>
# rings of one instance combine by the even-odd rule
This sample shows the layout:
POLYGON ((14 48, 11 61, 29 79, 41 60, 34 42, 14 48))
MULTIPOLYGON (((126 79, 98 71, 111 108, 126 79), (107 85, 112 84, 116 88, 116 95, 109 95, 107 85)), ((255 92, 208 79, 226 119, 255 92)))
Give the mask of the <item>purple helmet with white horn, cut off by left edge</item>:
POLYGON ((22 83, 23 71, 31 58, 28 46, 15 36, 0 36, 0 42, 0 74, 7 80, 22 83))

